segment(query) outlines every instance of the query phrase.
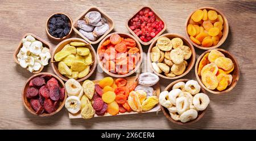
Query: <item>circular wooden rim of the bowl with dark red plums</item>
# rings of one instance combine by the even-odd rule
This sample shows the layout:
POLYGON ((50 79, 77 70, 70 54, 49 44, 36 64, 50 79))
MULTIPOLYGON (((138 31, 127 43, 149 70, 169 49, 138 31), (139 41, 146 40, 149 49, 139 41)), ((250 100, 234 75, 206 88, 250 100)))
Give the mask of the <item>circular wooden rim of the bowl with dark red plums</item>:
POLYGON ((44 113, 44 114, 36 114, 36 112, 34 110, 31 110, 30 108, 28 108, 26 102, 25 102, 25 99, 26 99, 26 96, 25 96, 25 88, 26 86, 29 84, 30 80, 32 80, 33 78, 35 78, 36 76, 39 76, 39 75, 43 75, 43 74, 48 74, 48 75, 52 75, 53 78, 57 79, 58 82, 63 85, 63 88, 65 89, 65 84, 63 82, 63 80, 61 80, 58 76, 56 76, 55 74, 52 74, 50 72, 40 72, 38 74, 34 74, 32 75, 30 78, 27 79, 26 83, 24 84, 23 88, 22 88, 22 102, 23 102, 23 105, 25 106, 25 108, 28 110, 28 112, 30 112, 31 114, 34 114, 35 116, 39 116, 39 117, 48 117, 48 116, 52 116, 53 114, 56 114, 58 113, 62 108, 63 106, 65 105, 65 101, 67 99, 67 91, 65 89, 65 97, 64 97, 64 100, 61 102, 61 105, 59 106, 59 108, 57 110, 55 110, 55 112, 52 112, 52 113, 44 113))

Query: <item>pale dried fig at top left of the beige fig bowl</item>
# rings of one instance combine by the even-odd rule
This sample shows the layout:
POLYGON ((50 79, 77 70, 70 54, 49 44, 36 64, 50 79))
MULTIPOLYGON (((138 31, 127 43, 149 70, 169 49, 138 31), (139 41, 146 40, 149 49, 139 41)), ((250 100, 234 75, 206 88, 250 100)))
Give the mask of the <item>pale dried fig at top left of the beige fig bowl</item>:
POLYGON ((156 42, 156 46, 158 46, 160 50, 170 51, 172 49, 172 42, 170 39, 163 36, 159 37, 158 41, 156 42))

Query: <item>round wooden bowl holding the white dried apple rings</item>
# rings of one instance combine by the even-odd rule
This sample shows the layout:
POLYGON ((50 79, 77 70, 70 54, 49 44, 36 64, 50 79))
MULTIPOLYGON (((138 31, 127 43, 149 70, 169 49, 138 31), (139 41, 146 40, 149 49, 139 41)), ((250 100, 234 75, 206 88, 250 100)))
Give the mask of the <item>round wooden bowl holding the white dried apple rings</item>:
MULTIPOLYGON (((172 90, 172 86, 174 86, 174 84, 176 84, 176 83, 178 83, 178 82, 185 82, 185 83, 186 83, 188 80, 189 80, 189 79, 178 79, 178 80, 175 80, 174 82, 172 82, 171 84, 169 84, 169 85, 164 89, 164 91, 170 92, 170 91, 172 90)), ((205 89, 204 89, 203 87, 201 87, 201 91, 200 91, 199 93, 205 93, 205 94, 206 94, 206 91, 205 91, 205 89)), ((195 122, 199 121, 199 120, 204 116, 204 114, 205 114, 205 112, 206 112, 206 110, 207 110, 207 109, 205 109, 205 110, 199 110, 198 116, 197 116, 196 119, 194 119, 193 121, 189 121, 189 122, 183 123, 183 122, 181 122, 181 121, 175 121, 174 119, 172 119, 171 116, 170 116, 170 113, 169 113, 168 109, 165 108, 165 107, 162 106, 162 105, 160 105, 160 106, 161 106, 161 110, 163 111, 164 116, 166 116, 166 118, 169 119, 169 121, 171 121, 171 122, 173 122, 173 123, 176 123, 176 124, 178 124, 178 125, 190 125, 190 124, 192 124, 192 123, 195 123, 195 122)))

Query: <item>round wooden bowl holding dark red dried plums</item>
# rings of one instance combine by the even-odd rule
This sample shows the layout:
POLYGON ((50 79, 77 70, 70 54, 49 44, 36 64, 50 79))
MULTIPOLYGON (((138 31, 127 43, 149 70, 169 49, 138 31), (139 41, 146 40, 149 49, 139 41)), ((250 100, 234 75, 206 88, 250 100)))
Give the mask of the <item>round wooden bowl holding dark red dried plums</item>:
POLYGON ((32 79, 34 79, 34 78, 36 78, 40 75, 43 75, 43 74, 52 75, 53 78, 57 79, 57 81, 59 82, 60 87, 65 88, 64 82, 60 78, 58 78, 56 75, 51 74, 49 72, 40 72, 39 74, 32 75, 30 78, 28 78, 28 80, 25 83, 25 85, 23 87, 23 90, 22 90, 22 101, 23 101, 23 105, 26 107, 28 112, 30 112, 31 114, 34 114, 34 115, 39 116, 39 117, 48 117, 48 116, 52 116, 53 114, 56 114, 57 112, 59 112, 63 108, 63 106, 65 105, 65 101, 67 99, 68 94, 67 94, 67 91, 65 90, 64 100, 62 102, 60 101, 60 106, 55 112, 52 112, 52 113, 49 113, 49 114, 48 113, 36 114, 35 110, 30 105, 30 101, 27 100, 26 92, 27 92, 27 88, 29 87, 28 85, 30 84, 30 80, 32 80, 32 79))

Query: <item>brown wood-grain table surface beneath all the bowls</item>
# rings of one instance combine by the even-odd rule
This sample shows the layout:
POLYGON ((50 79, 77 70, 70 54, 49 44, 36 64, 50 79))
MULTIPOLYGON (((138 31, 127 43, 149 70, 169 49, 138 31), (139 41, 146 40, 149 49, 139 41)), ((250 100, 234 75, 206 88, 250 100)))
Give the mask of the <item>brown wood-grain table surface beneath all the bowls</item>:
MULTIPOLYGON (((256 1, 0 1, 0 129, 256 129, 256 1), (73 20, 89 6, 98 6, 114 20, 116 32, 127 32, 125 22, 142 5, 151 6, 167 23, 164 33, 185 36, 185 19, 201 6, 222 11, 229 22, 229 35, 220 47, 229 50, 240 64, 240 80, 225 95, 208 93, 210 104, 205 116, 189 126, 175 125, 162 112, 127 116, 99 117, 90 120, 69 119, 63 108, 51 117, 40 118, 24 108, 21 91, 32 75, 13 59, 21 37, 35 33, 51 43, 45 31, 46 20, 54 12, 65 12, 73 20)), ((79 37, 73 33, 72 37, 79 37)), ((97 49, 97 45, 93 45, 97 49)), ((148 46, 143 46, 147 52, 148 46)), ((196 49, 197 57, 204 50, 196 49)), ((146 59, 144 59, 146 60, 146 59)), ((143 66, 145 66, 143 64, 143 66)), ((193 68, 184 78, 195 79, 193 68)), ((147 69, 142 69, 147 71, 147 69)), ((53 72, 48 65, 43 72, 53 72)), ((105 73, 94 72, 91 80, 105 73)), ((163 90, 172 80, 160 79, 163 90)))

